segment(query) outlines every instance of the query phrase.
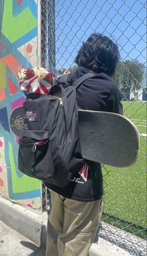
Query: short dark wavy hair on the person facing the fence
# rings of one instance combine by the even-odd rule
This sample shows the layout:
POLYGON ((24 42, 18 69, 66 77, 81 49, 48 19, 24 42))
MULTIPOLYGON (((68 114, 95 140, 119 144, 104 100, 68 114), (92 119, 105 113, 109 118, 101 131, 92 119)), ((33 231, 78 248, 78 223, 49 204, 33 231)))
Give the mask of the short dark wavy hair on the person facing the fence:
POLYGON ((118 46, 107 36, 93 33, 78 51, 75 63, 95 73, 104 72, 113 76, 120 59, 118 46))

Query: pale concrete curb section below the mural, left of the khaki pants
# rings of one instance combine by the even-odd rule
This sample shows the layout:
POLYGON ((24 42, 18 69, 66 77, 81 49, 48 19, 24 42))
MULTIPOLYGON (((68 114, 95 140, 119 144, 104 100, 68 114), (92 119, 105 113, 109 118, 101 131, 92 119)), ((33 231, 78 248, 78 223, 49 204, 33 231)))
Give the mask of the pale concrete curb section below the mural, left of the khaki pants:
POLYGON ((45 249, 47 213, 36 214, 0 197, 0 220, 27 239, 45 249))

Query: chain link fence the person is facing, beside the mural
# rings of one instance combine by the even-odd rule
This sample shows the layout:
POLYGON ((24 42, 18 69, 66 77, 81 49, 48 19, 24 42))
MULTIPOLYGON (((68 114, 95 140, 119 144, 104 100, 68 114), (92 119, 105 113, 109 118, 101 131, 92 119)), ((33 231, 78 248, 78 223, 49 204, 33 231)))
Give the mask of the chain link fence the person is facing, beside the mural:
MULTIPOLYGON (((124 116, 140 132, 136 164, 125 169, 103 165, 104 208, 99 235, 133 255, 145 255, 146 239, 146 1, 42 0, 42 66, 75 69, 78 49, 92 32, 118 44, 121 60, 113 79, 120 88, 124 116)), ((43 187, 44 210, 50 209, 43 187)))

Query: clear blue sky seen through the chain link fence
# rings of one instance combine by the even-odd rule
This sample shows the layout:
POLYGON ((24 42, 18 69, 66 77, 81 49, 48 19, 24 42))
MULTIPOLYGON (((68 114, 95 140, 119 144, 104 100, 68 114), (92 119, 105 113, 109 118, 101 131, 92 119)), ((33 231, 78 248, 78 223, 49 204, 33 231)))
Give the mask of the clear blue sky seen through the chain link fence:
POLYGON ((146 0, 56 0, 56 68, 73 65, 77 51, 92 32, 118 44, 121 60, 146 65, 146 0))

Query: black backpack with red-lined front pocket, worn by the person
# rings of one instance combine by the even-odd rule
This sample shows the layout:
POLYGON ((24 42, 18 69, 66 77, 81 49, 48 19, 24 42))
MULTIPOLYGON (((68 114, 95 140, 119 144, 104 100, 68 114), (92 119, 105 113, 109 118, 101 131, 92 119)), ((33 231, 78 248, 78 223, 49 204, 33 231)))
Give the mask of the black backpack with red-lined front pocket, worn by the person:
POLYGON ((91 76, 80 77, 72 86, 62 76, 50 95, 28 94, 25 130, 19 138, 18 169, 22 173, 64 187, 82 168, 76 88, 91 76))

